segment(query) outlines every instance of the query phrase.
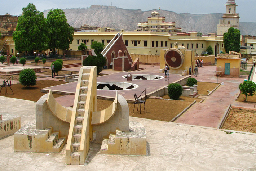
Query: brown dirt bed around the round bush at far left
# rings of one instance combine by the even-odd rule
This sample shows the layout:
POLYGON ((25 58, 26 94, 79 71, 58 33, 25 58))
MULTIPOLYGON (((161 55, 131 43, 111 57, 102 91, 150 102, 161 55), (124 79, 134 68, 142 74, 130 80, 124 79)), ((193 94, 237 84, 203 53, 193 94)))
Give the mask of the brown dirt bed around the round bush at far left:
MULTIPOLYGON (((10 98, 16 98, 16 99, 23 99, 23 100, 30 100, 37 102, 46 93, 41 93, 40 89, 43 89, 45 87, 50 87, 50 86, 56 86, 59 84, 65 84, 66 82, 64 81, 53 81, 53 80, 40 80, 36 81, 35 86, 31 87, 24 87, 21 84, 14 84, 12 85, 12 90, 14 94, 12 94, 12 90, 7 87, 7 93, 5 95, 5 88, 2 89, 1 91, 1 96, 5 97, 10 97, 10 98)), ((54 98, 62 96, 59 94, 53 94, 54 98)))

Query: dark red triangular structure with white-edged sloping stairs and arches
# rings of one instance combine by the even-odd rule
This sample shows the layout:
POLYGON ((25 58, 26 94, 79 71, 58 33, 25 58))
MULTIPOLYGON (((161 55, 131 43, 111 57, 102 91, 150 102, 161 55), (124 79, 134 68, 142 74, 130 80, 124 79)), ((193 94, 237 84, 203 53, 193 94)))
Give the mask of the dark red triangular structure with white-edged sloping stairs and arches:
POLYGON ((113 67, 114 70, 129 70, 133 63, 132 58, 124 44, 123 33, 121 33, 120 36, 116 34, 106 48, 101 52, 101 54, 106 58, 107 68, 113 67), (114 58, 115 60, 113 60, 114 58))

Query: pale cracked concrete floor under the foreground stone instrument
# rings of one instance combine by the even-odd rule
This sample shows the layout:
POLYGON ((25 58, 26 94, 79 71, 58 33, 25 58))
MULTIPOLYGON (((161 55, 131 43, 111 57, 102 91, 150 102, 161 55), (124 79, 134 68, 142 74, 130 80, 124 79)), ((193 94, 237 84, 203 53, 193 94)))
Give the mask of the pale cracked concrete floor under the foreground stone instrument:
MULTIPOLYGON (((1 113, 35 120, 36 102, 0 96, 1 113), (15 106, 15 107, 14 107, 15 106), (11 109, 11 110, 10 110, 11 109)), ((0 170, 256 170, 256 134, 130 117, 147 132, 146 156, 101 155, 90 144, 84 166, 65 165, 61 153, 14 152, 13 135, 0 139, 0 170)))

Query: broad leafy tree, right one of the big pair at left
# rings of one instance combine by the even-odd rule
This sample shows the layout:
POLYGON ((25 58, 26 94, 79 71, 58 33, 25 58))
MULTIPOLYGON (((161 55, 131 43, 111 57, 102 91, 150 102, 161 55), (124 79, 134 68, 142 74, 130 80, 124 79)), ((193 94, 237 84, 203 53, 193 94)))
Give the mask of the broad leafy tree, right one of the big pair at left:
POLYGON ((47 26, 49 30, 48 48, 69 49, 73 41, 74 28, 67 23, 65 13, 61 9, 50 10, 47 14, 47 26))

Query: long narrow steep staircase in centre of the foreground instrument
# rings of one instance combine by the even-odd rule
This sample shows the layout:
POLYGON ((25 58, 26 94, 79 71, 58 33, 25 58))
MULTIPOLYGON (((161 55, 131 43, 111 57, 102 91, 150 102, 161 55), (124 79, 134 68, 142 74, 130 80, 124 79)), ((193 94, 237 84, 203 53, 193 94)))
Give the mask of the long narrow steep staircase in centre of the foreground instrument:
MULTIPOLYGON (((96 67, 94 70, 96 71, 96 67)), ((89 142, 86 132, 89 132, 88 125, 90 123, 88 121, 88 110, 85 110, 85 108, 87 106, 86 102, 88 99, 87 93, 90 77, 91 68, 81 67, 78 77, 78 85, 76 87, 76 95, 66 149, 66 163, 71 165, 79 165, 84 163, 83 157, 81 158, 81 156, 83 156, 85 151, 87 151, 87 140, 89 142)), ((91 92, 91 89, 89 90, 91 92)), ((88 94, 88 96, 90 99, 91 95, 88 94)))

